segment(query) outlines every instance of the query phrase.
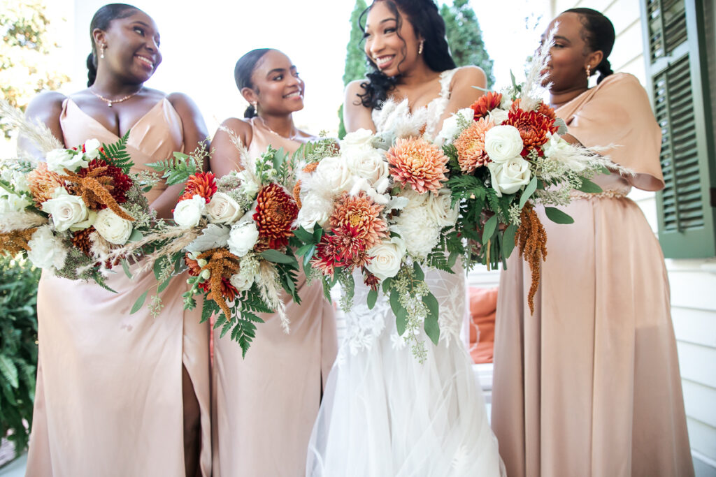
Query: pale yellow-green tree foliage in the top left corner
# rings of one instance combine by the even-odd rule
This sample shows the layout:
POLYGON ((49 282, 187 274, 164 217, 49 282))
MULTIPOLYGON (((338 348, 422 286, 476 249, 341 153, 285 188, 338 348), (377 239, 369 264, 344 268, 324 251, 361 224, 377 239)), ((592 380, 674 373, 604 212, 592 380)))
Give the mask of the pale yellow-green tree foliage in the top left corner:
MULTIPOLYGON (((58 47, 50 21, 42 0, 0 0, 0 90, 7 102, 22 111, 35 94, 69 81, 66 74, 49 66, 52 51, 58 47)), ((0 129, 9 137, 9 128, 2 122, 0 129)))

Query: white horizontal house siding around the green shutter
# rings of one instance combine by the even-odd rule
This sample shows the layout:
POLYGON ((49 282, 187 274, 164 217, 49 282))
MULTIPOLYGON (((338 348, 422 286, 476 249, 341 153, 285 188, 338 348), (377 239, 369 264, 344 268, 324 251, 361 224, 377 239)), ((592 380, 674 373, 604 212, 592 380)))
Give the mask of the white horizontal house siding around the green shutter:
MULTIPOLYGON (((609 59, 615 72, 634 74, 646 84, 641 0, 551 0, 551 16, 577 6, 596 9, 614 24, 616 41, 609 59)), ((716 78, 716 19, 713 1, 707 11, 710 77, 716 78)), ((712 111, 716 112, 716 82, 711 82, 712 111)), ((657 207, 652 192, 630 194, 657 231, 657 207)), ((672 295, 672 319, 679 350, 684 402, 697 476, 716 476, 716 258, 666 260, 672 295)))

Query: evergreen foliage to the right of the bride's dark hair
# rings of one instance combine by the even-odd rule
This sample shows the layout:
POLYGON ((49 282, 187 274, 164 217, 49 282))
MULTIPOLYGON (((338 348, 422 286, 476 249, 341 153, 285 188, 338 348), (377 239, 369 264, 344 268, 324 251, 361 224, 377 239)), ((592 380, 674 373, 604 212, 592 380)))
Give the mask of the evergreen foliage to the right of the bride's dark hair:
POLYGON ((440 8, 442 19, 450 44, 450 53, 458 67, 475 65, 485 71, 488 77, 488 89, 495 83, 493 60, 490 59, 478 17, 468 0, 453 0, 453 6, 443 4, 440 8))

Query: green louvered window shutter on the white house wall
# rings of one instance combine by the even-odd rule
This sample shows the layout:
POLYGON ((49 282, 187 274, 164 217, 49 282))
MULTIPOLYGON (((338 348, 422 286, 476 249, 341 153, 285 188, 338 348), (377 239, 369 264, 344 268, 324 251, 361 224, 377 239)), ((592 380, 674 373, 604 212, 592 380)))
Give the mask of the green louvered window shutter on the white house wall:
MULTIPOLYGON (((711 0, 707 0, 711 1, 711 0)), ((702 0, 642 0, 644 56, 662 128, 657 193, 664 256, 716 255, 716 157, 702 0)))

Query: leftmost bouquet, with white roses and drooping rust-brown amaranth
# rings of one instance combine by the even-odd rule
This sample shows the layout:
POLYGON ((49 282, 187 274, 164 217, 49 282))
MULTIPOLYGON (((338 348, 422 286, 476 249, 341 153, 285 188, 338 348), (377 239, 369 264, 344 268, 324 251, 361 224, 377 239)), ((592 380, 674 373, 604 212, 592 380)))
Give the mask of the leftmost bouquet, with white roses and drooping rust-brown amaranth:
MULTIPOLYGON (((49 131, 26 124, 44 144, 49 131), (39 131, 39 132, 38 132, 39 131)), ((128 134, 128 133, 127 133, 128 134)), ((47 151, 46 162, 0 164, 0 252, 25 255, 36 266, 72 280, 105 285, 115 262, 107 253, 142 237, 153 212, 144 197, 152 182, 132 174, 127 134, 113 144, 89 139, 47 151)))

